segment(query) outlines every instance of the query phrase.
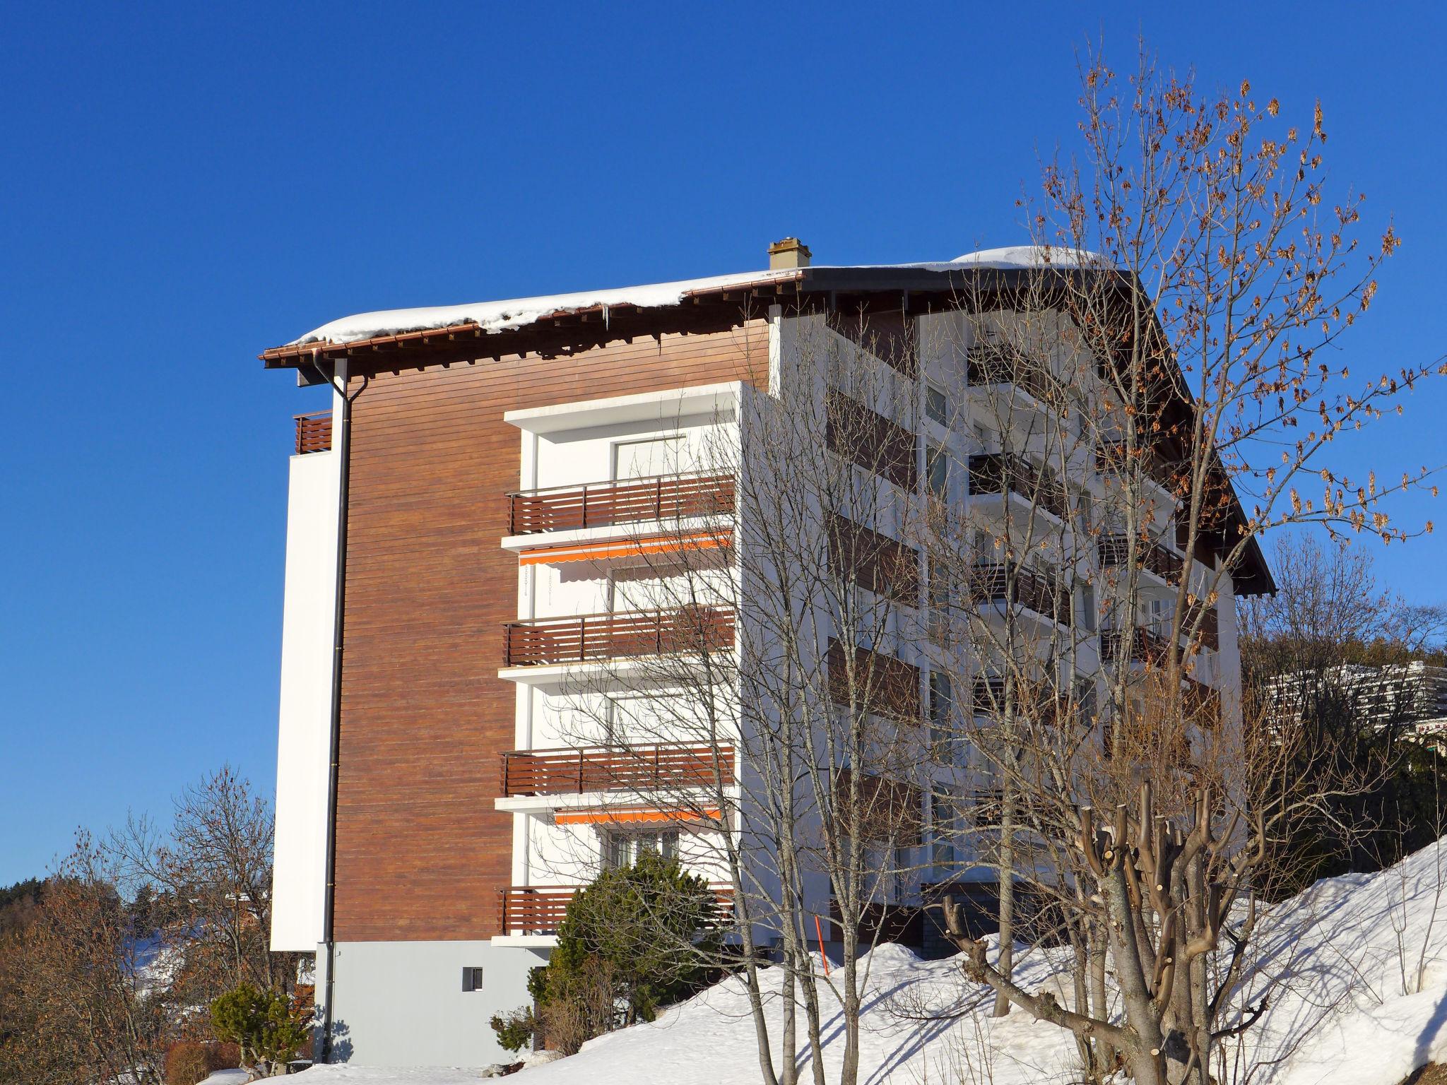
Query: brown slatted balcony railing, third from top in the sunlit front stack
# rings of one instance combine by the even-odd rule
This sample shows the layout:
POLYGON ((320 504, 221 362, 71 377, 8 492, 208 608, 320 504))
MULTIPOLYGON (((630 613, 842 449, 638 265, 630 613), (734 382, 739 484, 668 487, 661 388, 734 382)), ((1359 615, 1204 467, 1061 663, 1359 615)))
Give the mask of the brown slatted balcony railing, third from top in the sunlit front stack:
POLYGON ((518 749, 502 755, 502 794, 703 787, 734 783, 734 749, 660 744, 634 749, 518 749))

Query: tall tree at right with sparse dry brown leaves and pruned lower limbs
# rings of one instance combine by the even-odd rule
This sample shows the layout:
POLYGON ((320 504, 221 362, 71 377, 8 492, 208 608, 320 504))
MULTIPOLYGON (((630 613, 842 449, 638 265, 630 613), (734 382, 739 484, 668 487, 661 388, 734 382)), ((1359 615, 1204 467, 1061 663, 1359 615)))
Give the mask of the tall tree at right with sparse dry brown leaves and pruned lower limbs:
MULTIPOLYGON (((1147 56, 1127 80, 1088 58, 1081 104, 1082 161, 1046 166, 1033 247, 1007 268, 977 262, 959 298, 974 353, 955 427, 975 435, 971 512, 923 528, 932 577, 962 584, 938 593, 962 603, 955 639, 969 647, 956 726, 998 796, 998 842, 972 841, 974 861, 996 867, 1003 897, 1027 887, 1048 901, 1051 936, 1077 949, 1077 1004, 1014 985, 1009 922, 994 962, 974 936, 961 943, 972 978, 1075 1033, 1092 1079, 1120 1055, 1139 1081, 1205 1081, 1214 1044, 1255 1016, 1236 981, 1262 841, 1372 783, 1333 767, 1307 791, 1288 787, 1301 735, 1243 728, 1233 595, 1269 587, 1250 584, 1268 529, 1412 534, 1382 502, 1424 485, 1425 469, 1357 485, 1330 457, 1334 438, 1440 365, 1356 383, 1323 363, 1398 239, 1388 230, 1359 252, 1357 200, 1318 221, 1320 110, 1310 133, 1281 130, 1276 103, 1257 109, 1244 84, 1202 95, 1147 56), (1308 477, 1320 498, 1302 493, 1308 477), (981 492, 1003 493, 1003 508, 974 515, 981 492), (1052 602, 1058 571, 1075 583, 1066 612, 1052 602), (1017 610, 1048 621, 1032 634, 1017 610), (1153 781, 1145 806, 1142 780, 1153 781), (1250 846, 1233 812, 1255 826, 1250 846), (1160 823, 1171 848, 1158 813, 1174 819, 1160 823), (1116 829, 1108 846, 1100 822, 1116 829), (1239 893, 1246 919, 1229 926, 1220 904, 1239 893), (1195 949, 1172 950, 1188 929, 1181 945, 1195 949), (1103 1027, 1114 994, 1127 1033, 1103 1027)), ((959 936, 958 910, 946 914, 959 936)))

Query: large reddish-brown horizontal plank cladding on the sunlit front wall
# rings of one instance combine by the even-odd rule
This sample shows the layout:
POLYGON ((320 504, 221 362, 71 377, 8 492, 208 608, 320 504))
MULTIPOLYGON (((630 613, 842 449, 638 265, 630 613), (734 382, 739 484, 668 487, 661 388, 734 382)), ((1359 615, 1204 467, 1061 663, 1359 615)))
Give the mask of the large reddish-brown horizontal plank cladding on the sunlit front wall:
MULTIPOLYGON (((502 415, 728 380, 767 386, 767 324, 699 331, 372 372, 352 425, 339 940, 499 932, 512 814, 493 799, 498 758, 515 745, 517 687, 498 667, 504 624, 518 613, 518 558, 498 542, 521 460, 521 434, 502 415)), ((350 391, 356 366, 399 359, 359 353, 350 391)))

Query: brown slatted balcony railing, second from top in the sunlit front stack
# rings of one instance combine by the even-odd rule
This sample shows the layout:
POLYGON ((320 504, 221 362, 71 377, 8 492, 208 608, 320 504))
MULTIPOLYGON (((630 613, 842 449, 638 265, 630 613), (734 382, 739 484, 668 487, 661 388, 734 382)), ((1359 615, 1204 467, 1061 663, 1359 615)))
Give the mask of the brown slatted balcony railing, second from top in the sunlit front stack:
POLYGON ((624 610, 508 622, 505 667, 721 651, 734 644, 734 612, 713 606, 624 610))

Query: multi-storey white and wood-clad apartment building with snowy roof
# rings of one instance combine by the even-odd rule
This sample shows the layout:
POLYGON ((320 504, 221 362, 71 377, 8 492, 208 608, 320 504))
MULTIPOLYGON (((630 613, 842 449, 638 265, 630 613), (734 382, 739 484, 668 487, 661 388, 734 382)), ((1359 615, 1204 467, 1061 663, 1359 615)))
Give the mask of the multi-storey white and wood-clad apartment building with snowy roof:
MULTIPOLYGON (((880 615, 867 637, 818 624, 813 663, 831 681, 862 665, 922 733, 942 706, 998 694, 977 625, 951 644, 984 664, 939 658, 958 599, 930 605, 943 579, 910 511, 969 509, 988 535, 1020 508, 1062 524, 1051 502, 1103 485, 1094 453, 1051 466, 1011 437, 1045 405, 998 347, 1007 315, 981 323, 978 298, 1039 273, 1016 250, 813 266, 789 239, 758 272, 370 312, 262 354, 333 389, 328 412, 297 418, 291 460, 272 930, 273 949, 317 952, 326 1058, 502 1059, 488 1020, 528 1001, 574 888, 642 851, 708 878, 724 913, 731 855, 768 894, 777 864, 750 842, 764 783, 748 755, 768 719, 751 702, 767 531, 744 495, 809 459, 778 428, 799 389, 822 420, 810 440, 871 479, 851 482, 870 493, 864 515, 815 502, 835 525, 819 561, 848 551, 880 615)), ((981 542, 969 622, 1023 616, 1056 645, 1048 663, 1066 639, 1068 681, 1092 699, 1103 661, 1160 651, 1184 561, 1162 495, 1132 628, 1098 621, 1081 576, 1124 561, 1110 532, 1042 542, 1029 566, 981 542)), ((1207 571, 1218 550, 1198 554, 1207 571)), ((1253 547, 1194 615, 1188 681, 1227 716, 1234 595, 1270 589, 1253 547)), ((901 930, 930 880, 985 877, 959 810, 935 799, 968 786, 968 754, 935 760, 923 783, 871 784, 904 812, 899 869, 925 868, 880 888, 901 930)), ((828 878, 805 893, 828 923, 828 878)), ((917 940, 901 930, 890 936, 917 940)))

